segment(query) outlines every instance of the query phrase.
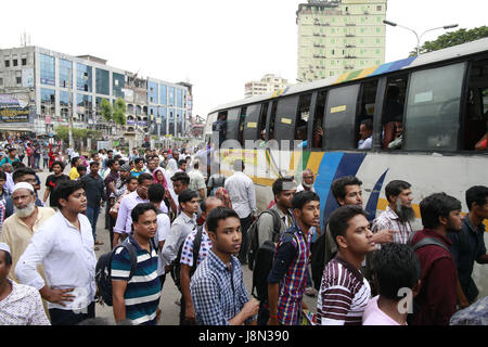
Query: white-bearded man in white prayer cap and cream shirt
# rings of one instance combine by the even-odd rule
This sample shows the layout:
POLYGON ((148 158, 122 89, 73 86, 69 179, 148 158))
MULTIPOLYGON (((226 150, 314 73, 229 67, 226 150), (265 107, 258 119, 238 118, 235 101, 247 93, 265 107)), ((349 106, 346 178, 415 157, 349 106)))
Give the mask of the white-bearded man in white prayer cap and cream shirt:
MULTIPOLYGON (((12 201, 14 214, 3 222, 0 241, 10 246, 12 268, 15 269, 34 233, 46 220, 55 215, 55 210, 51 207, 36 206, 34 187, 27 182, 18 182, 13 187, 12 201)), ((38 272, 44 279, 42 266, 38 267, 38 272)), ((9 279, 18 283, 14 271, 10 271, 9 279)), ((43 305, 46 313, 49 314, 46 301, 43 305)))

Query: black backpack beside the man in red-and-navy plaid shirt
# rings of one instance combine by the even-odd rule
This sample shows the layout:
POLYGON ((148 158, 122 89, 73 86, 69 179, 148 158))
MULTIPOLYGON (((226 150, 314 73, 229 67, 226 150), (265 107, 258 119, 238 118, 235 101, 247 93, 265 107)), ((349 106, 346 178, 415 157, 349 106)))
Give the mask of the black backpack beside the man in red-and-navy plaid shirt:
MULTIPOLYGON (((295 237, 294 232, 286 231, 283 236, 295 237)), ((268 303, 268 275, 271 272, 277 245, 272 241, 265 241, 256 254, 256 267, 253 271, 253 287, 251 294, 261 304, 268 303)))

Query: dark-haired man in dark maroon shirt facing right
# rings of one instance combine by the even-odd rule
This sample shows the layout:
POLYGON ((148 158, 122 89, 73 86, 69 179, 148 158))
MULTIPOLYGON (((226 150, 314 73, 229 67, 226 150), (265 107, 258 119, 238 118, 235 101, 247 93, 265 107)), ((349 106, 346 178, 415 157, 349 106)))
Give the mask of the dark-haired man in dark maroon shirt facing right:
POLYGON ((409 323, 449 325, 449 320, 455 312, 458 270, 448 250, 451 241, 447 237, 447 232, 460 231, 462 228, 461 202, 446 193, 435 193, 420 203, 420 210, 424 229, 415 233, 411 245, 415 249, 415 245, 422 240, 431 240, 415 250, 422 267, 422 287, 415 298, 420 308, 409 319, 409 323), (433 244, 434 242, 438 244, 433 244))

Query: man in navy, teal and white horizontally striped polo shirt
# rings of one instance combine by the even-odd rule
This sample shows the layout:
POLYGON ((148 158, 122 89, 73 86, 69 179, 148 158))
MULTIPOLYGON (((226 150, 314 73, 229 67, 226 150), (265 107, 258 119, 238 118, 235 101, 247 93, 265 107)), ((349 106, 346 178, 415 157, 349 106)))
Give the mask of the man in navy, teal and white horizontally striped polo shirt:
POLYGON ((126 248, 116 249, 112 258, 112 286, 115 321, 130 320, 134 325, 156 325, 160 282, 157 277, 157 253, 151 239, 157 230, 157 213, 152 204, 138 204, 131 211, 133 235, 129 242, 137 253, 137 268, 129 280, 131 264, 126 248))

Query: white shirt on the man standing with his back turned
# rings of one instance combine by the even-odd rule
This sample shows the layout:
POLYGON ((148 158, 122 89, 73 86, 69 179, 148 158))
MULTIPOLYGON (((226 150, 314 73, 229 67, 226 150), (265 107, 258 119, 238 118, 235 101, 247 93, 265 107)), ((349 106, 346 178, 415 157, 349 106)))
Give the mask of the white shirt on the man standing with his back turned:
POLYGON ((239 218, 256 215, 256 192, 253 180, 244 172, 235 171, 226 180, 226 190, 229 192, 232 208, 239 218))

